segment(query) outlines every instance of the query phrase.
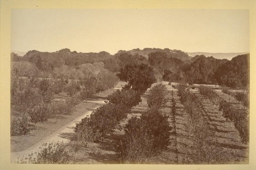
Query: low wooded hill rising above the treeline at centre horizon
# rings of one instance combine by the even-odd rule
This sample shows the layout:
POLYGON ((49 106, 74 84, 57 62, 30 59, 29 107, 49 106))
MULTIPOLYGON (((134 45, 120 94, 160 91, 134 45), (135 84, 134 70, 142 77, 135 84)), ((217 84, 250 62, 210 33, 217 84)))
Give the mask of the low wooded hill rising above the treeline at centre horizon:
POLYGON ((169 57, 178 58, 182 61, 190 60, 190 57, 180 50, 170 50, 169 48, 164 48, 163 50, 161 48, 144 48, 143 50, 140 50, 139 48, 130 50, 130 51, 122 51, 120 50, 118 53, 127 52, 131 54, 138 54, 141 56, 144 56, 148 59, 148 54, 154 53, 154 52, 164 52, 169 57))

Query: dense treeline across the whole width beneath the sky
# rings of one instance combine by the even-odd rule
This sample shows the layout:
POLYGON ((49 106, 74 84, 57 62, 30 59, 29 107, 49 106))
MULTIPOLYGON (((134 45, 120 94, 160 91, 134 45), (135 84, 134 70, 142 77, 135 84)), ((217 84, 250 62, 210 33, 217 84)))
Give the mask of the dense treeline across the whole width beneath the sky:
POLYGON ((246 88, 249 83, 249 54, 229 61, 204 55, 189 58, 182 51, 168 48, 134 49, 115 55, 77 53, 65 48, 55 53, 29 51, 24 57, 12 54, 11 58, 12 72, 25 77, 82 79, 84 72, 97 76, 102 72, 117 73, 125 65, 150 64, 158 80, 185 79, 190 84, 219 84, 231 88, 246 88))

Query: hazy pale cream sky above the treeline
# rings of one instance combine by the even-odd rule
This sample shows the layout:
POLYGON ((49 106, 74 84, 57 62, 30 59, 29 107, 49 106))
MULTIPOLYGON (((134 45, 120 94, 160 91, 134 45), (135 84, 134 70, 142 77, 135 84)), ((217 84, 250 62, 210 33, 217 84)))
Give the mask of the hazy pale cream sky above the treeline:
POLYGON ((248 10, 12 9, 11 50, 249 52, 248 10))

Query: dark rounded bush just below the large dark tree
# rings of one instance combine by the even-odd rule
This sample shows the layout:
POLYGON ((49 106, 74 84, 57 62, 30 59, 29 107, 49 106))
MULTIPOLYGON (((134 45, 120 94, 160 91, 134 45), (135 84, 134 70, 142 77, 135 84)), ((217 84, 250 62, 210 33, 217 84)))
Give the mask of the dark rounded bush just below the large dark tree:
POLYGON ((138 105, 142 100, 140 98, 140 93, 129 90, 116 90, 108 96, 108 101, 113 104, 120 104, 131 109, 132 107, 138 105))

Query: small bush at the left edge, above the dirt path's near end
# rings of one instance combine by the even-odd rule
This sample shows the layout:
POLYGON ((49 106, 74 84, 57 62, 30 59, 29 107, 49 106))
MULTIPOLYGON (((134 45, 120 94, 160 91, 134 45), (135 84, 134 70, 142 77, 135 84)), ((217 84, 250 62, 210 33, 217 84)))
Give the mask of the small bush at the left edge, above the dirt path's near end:
POLYGON ((29 130, 29 117, 23 115, 22 117, 11 117, 11 136, 26 135, 29 130))

